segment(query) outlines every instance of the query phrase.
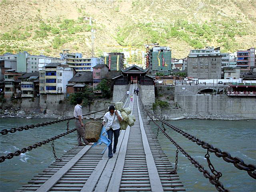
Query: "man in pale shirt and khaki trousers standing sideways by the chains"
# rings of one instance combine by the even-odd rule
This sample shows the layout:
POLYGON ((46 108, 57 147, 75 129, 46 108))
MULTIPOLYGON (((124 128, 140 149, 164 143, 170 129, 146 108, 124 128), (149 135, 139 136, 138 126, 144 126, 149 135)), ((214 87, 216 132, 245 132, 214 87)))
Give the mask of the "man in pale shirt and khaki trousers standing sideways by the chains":
POLYGON ((93 143, 89 143, 84 136, 84 123, 83 123, 83 116, 82 116, 82 98, 76 98, 77 105, 74 108, 74 117, 75 125, 76 125, 76 131, 77 131, 77 142, 78 146, 85 146, 85 145, 92 145, 93 143), (85 144, 81 142, 81 138, 84 141, 85 144))

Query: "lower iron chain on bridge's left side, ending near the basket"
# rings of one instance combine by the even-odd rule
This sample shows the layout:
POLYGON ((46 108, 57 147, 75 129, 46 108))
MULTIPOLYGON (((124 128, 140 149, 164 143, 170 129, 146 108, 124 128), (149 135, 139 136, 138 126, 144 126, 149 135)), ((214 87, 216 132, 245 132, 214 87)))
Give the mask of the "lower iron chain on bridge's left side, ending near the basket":
POLYGON ((69 133, 72 133, 72 132, 74 132, 75 130, 76 130, 76 128, 74 128, 74 129, 72 129, 72 130, 69 130, 69 131, 67 131, 67 132, 65 132, 65 133, 59 134, 59 135, 57 135, 57 136, 54 136, 54 137, 52 137, 52 138, 50 138, 50 139, 44 140, 44 141, 42 141, 42 142, 38 142, 38 143, 36 143, 36 144, 34 144, 34 145, 32 145, 32 146, 28 146, 27 148, 23 148, 22 150, 18 150, 18 151, 14 152, 14 153, 9 153, 9 154, 6 155, 6 156, 1 156, 1 157, 0 157, 0 163, 4 162, 4 160, 6 160, 6 159, 11 159, 11 158, 13 158, 14 156, 19 156, 19 155, 22 154, 22 153, 26 153, 27 151, 31 151, 32 149, 35 149, 35 148, 37 148, 37 147, 40 147, 40 146, 42 146, 42 145, 44 145, 44 144, 46 144, 46 143, 49 143, 50 141, 56 140, 56 139, 58 139, 58 138, 60 138, 60 137, 62 137, 62 136, 65 136, 65 135, 67 135, 67 134, 69 134, 69 133))

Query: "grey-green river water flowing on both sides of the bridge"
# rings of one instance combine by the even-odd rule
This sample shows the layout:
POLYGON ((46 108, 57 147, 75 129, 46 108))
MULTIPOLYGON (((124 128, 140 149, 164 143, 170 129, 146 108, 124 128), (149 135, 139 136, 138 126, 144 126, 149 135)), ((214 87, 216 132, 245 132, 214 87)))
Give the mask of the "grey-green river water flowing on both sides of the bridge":
MULTIPOLYGON (((0 119, 0 130, 14 127, 45 122, 45 119, 23 119, 4 118, 0 119)), ((170 121, 174 126, 185 132, 229 152, 231 156, 239 157, 246 164, 256 164, 256 120, 176 120, 170 121)), ((156 133, 156 126, 152 128, 156 133)), ((74 121, 70 121, 70 129, 74 128, 74 121)), ((167 127, 166 127, 167 128, 167 127)), ((23 130, 13 134, 0 135, 0 156, 6 156, 10 152, 21 150, 24 147, 35 144, 66 132, 66 122, 50 126, 23 130)), ((166 132, 196 159, 205 169, 209 170, 207 161, 204 158, 206 150, 194 142, 184 138, 182 135, 167 128, 166 132)), ((159 132, 158 138, 162 149, 171 162, 175 161, 176 148, 159 132)), ((54 141, 56 155, 60 157, 72 146, 76 145, 76 132, 68 134, 54 141)), ((222 158, 210 153, 210 159, 214 168, 222 172, 220 181, 226 189, 232 192, 255 192, 256 182, 247 172, 238 170, 233 164, 227 163, 222 158)), ((42 172, 51 162, 54 162, 51 143, 42 145, 36 149, 15 156, 10 160, 0 163, 0 192, 11 192, 22 185, 27 184, 33 176, 42 172)), ((204 178, 197 168, 190 164, 190 161, 179 152, 178 175, 184 184, 187 192, 215 192, 215 187, 209 180, 204 178)))

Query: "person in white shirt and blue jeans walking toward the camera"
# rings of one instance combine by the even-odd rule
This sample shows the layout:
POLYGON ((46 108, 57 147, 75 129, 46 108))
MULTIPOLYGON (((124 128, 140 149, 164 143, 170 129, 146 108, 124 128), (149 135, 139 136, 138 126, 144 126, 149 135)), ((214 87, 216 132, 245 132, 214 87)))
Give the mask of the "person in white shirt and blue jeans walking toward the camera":
POLYGON ((120 111, 115 110, 114 106, 109 106, 108 112, 103 116, 102 124, 105 126, 108 132, 108 139, 110 140, 110 145, 108 146, 108 158, 113 157, 113 153, 116 153, 116 146, 118 143, 118 136, 120 133, 120 122, 122 121, 122 116, 120 111), (114 147, 112 153, 112 140, 114 134, 114 147))

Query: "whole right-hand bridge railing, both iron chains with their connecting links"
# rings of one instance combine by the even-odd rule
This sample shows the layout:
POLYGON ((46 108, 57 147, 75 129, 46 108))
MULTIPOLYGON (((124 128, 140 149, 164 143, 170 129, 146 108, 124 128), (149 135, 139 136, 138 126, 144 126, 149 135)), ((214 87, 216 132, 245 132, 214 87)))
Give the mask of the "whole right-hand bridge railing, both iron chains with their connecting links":
MULTIPOLYGON (((223 160, 225 160, 228 163, 233 163, 234 166, 236 168, 238 168, 239 170, 244 170, 246 171, 252 178, 256 179, 256 166, 252 165, 252 164, 245 164, 244 161, 238 157, 232 157, 228 152, 222 152, 219 148, 215 148, 213 145, 209 144, 208 142, 202 141, 198 138, 196 138, 195 136, 192 136, 191 134, 188 134, 186 132, 184 132, 183 130, 176 128, 175 126, 169 124, 168 122, 166 122, 165 120, 161 119, 160 117, 156 116, 152 111, 148 110, 146 108, 146 106, 144 106, 144 104, 142 103, 142 100, 139 96, 139 101, 140 104, 144 110, 144 112, 150 117, 150 120, 152 120, 152 122, 154 122, 154 124, 156 124, 156 126, 158 127, 158 130, 161 130, 161 132, 174 144, 174 146, 176 146, 177 151, 176 151, 176 165, 175 165, 175 170, 177 168, 177 160, 178 160, 178 150, 180 150, 180 152, 182 152, 187 158, 188 160, 190 160, 190 162, 196 167, 198 168, 198 170, 200 172, 203 173, 204 177, 208 178, 210 183, 215 185, 216 189, 218 191, 221 192, 227 192, 229 190, 226 190, 223 186, 223 184, 219 181, 219 178, 222 176, 221 172, 217 172, 214 169, 214 166, 212 165, 212 163, 210 162, 210 155, 209 152, 214 153, 217 157, 222 157, 223 160), (162 128, 154 121, 154 118, 156 118, 157 120, 159 120, 160 122, 162 122, 162 128), (205 155, 205 158, 208 162, 208 166, 212 172, 213 175, 211 175, 207 170, 204 169, 204 167, 202 165, 199 164, 199 162, 197 162, 194 158, 192 158, 189 154, 187 154, 185 152, 184 149, 182 149, 167 133, 166 133, 166 129, 164 127, 164 125, 168 126, 169 128, 172 128, 174 131, 178 132, 179 134, 182 134, 182 136, 188 138, 189 140, 191 140, 192 142, 196 142, 196 144, 198 144, 199 146, 201 146, 204 149, 207 149, 207 153, 205 155)), ((157 133, 158 134, 158 133, 157 133)))

